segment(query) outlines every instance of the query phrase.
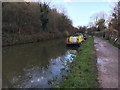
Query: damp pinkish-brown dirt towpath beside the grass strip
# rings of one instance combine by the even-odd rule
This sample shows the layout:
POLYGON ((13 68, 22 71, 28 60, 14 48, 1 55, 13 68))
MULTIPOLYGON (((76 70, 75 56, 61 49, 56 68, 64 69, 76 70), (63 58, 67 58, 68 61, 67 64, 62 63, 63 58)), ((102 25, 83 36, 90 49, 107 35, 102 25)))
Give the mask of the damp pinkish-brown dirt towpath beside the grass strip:
POLYGON ((118 88, 118 49, 107 41, 94 38, 98 80, 102 88, 118 88))

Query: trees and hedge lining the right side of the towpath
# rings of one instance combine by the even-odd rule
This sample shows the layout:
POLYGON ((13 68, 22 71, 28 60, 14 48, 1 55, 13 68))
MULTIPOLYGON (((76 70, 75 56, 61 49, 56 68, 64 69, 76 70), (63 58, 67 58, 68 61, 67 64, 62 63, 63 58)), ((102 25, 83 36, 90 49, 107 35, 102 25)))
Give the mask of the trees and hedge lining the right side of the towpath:
POLYGON ((109 18, 105 13, 98 13, 92 16, 94 20, 87 28, 89 34, 103 37, 114 46, 120 48, 120 1, 116 2, 109 18))

